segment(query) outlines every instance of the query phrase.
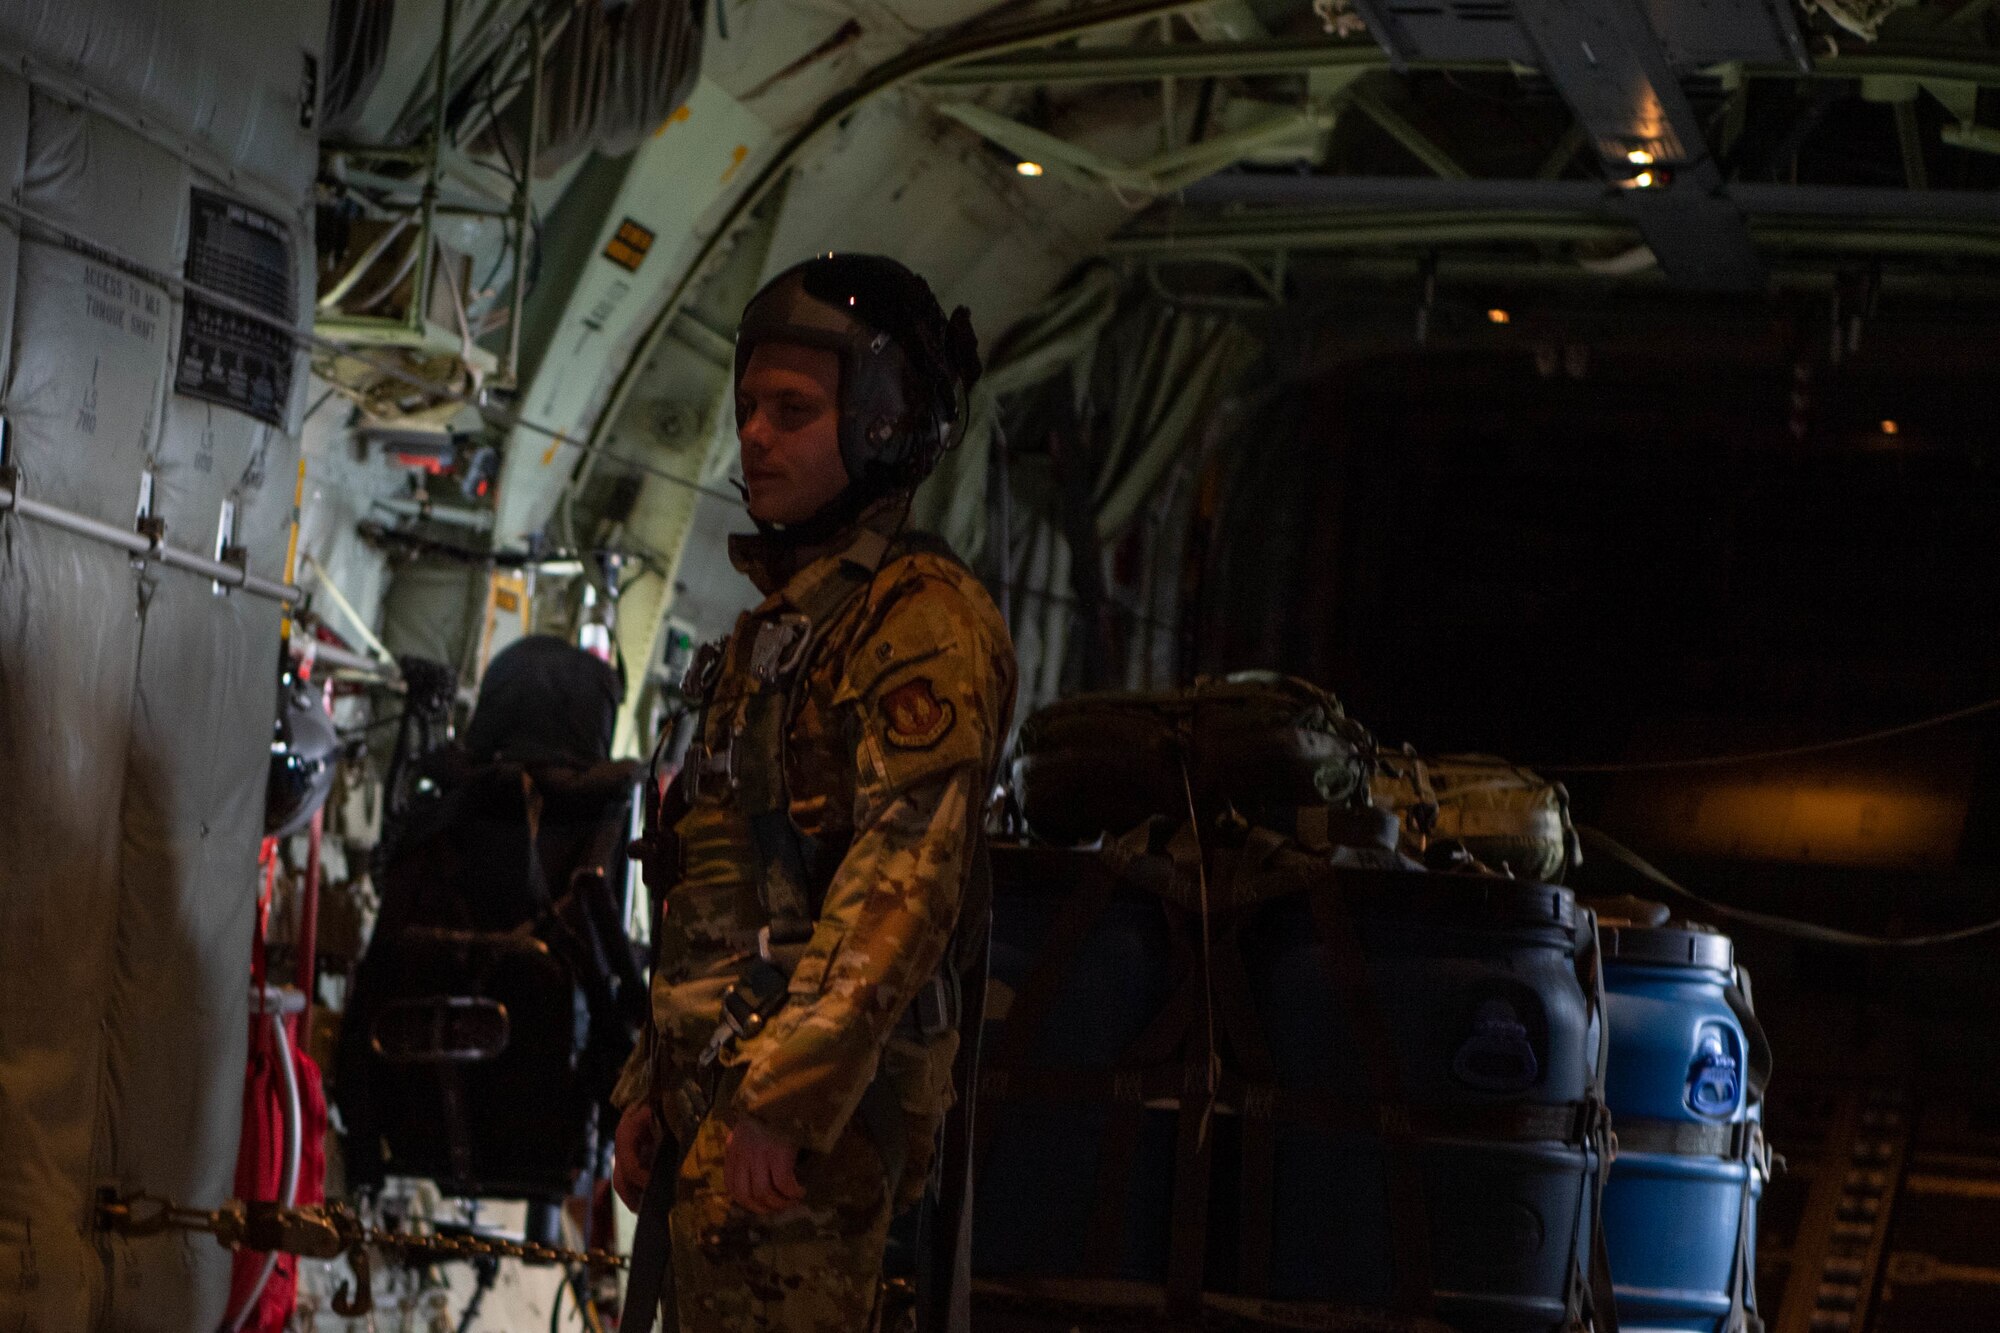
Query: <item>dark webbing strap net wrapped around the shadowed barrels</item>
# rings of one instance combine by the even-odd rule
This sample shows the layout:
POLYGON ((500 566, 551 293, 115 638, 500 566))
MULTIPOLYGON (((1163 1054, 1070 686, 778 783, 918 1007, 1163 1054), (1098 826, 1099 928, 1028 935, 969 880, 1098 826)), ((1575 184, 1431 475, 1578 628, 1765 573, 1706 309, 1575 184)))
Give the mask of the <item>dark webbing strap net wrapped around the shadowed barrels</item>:
MULTIPOLYGON (((1234 923, 1224 919, 1212 949, 1210 983, 1214 997, 1214 1017, 1220 1025, 1222 1045, 1232 1053, 1234 1069, 1226 1067, 1216 1079, 1212 1065, 1202 1059, 1206 1047, 1190 1039, 1190 1029, 1200 1017, 1204 969, 1188 943, 1188 903, 1190 895, 1178 881, 1186 869, 1176 865, 1172 885, 1152 883, 1158 877, 1140 877, 1134 871, 1142 863, 1156 861, 1140 847, 1138 833, 1128 839, 1130 847, 1106 849, 1102 863, 1086 873, 1076 893, 1070 893, 1044 935, 1046 947, 1026 981, 1014 995, 1006 1021, 1000 1027, 994 1057, 980 1075, 978 1097, 988 1103, 1006 1101, 1056 1101, 1110 1107, 1112 1117, 1104 1129, 1104 1147, 1098 1167, 1096 1211, 1092 1217, 1084 1265, 1090 1279, 1068 1283, 1074 1291, 1096 1289, 1110 1281, 1118 1267, 1118 1245, 1124 1235, 1122 1205, 1124 1191, 1136 1153, 1142 1113, 1178 1111, 1184 1131, 1176 1153, 1176 1199, 1200 1197, 1206 1207, 1206 1157, 1208 1137, 1206 1113, 1238 1115, 1242 1127, 1242 1209, 1238 1233, 1238 1277, 1246 1291, 1242 1305, 1264 1311, 1286 1307, 1286 1303, 1262 1301, 1270 1283, 1270 1195, 1274 1171, 1272 1133, 1278 1123, 1298 1123, 1328 1131, 1380 1135, 1388 1171, 1388 1213, 1394 1241, 1396 1283, 1392 1311, 1344 1311, 1334 1315, 1322 1307, 1286 1307, 1304 1319, 1300 1327, 1354 1327, 1354 1329, 1404 1329, 1442 1327, 1434 1319, 1432 1277, 1428 1265, 1430 1227, 1422 1197, 1422 1171, 1418 1165, 1420 1139, 1460 1139, 1496 1143, 1564 1143, 1586 1149, 1594 1157, 1596 1181, 1578 1197, 1574 1219, 1570 1281, 1570 1327, 1594 1327, 1596 1333, 1616 1331, 1616 1311, 1610 1295, 1610 1269, 1602 1253, 1596 1221, 1596 1201, 1602 1191, 1604 1173, 1612 1159, 1610 1123, 1604 1113, 1602 1077, 1606 1065, 1604 1031, 1604 991, 1602 969, 1596 963, 1594 935, 1586 925, 1580 935, 1592 943, 1580 957, 1580 981, 1592 1013, 1598 1021, 1598 1051, 1592 1063, 1592 1079, 1586 1097, 1574 1103, 1534 1105, 1534 1103, 1492 1103, 1464 1107, 1412 1107, 1402 1097, 1400 1073, 1394 1063, 1394 1049, 1374 1005, 1368 981, 1366 959, 1354 931, 1352 915, 1338 891, 1316 889, 1308 895, 1316 937, 1328 957, 1328 973, 1344 999, 1346 1013, 1354 1023, 1354 1039, 1364 1057, 1366 1087, 1356 1093, 1342 1091, 1302 1091, 1278 1087, 1272 1061, 1256 1023, 1250 1001, 1248 979, 1242 971, 1242 949, 1236 941, 1234 923), (1034 1069, 1030 1055, 1036 1039, 1056 1015, 1060 989, 1070 973, 1078 951, 1086 943, 1096 923, 1110 909, 1120 883, 1144 887, 1162 903, 1166 913, 1170 945, 1174 951, 1172 969, 1176 987, 1162 1011, 1148 1025, 1146 1033, 1126 1049, 1118 1065, 1110 1069, 1034 1069), (1186 1131, 1196 1129, 1188 1139, 1186 1131), (1584 1237, 1590 1237, 1586 1241, 1584 1237), (1352 1315, 1352 1321, 1346 1321, 1352 1315)), ((1150 839, 1148 839, 1150 841, 1150 839)), ((1180 849, 1170 847, 1168 853, 1180 849)), ((1266 861, 1260 849, 1246 847, 1236 871, 1254 871, 1266 861)), ((1184 861, 1184 857, 1176 857, 1184 861)), ((1216 895, 1228 899, 1228 887, 1216 895)), ((990 1135, 992 1119, 980 1123, 980 1147, 990 1135)), ((1196 1217, 1192 1227, 1182 1225, 1176 1209, 1174 1255, 1168 1265, 1166 1287, 1136 1285, 1152 1291, 1168 1317, 1188 1317, 1188 1303, 1198 1309, 1218 1301, 1214 1293, 1198 1287, 1188 1293, 1190 1273, 1200 1281, 1200 1267, 1186 1265, 1186 1253, 1204 1245, 1202 1223, 1196 1217), (1184 1235, 1186 1233, 1186 1235, 1184 1235), (1180 1259, 1180 1263, 1176 1263, 1180 1259)), ((1050 1287, 1050 1283, 1030 1283, 1050 1287)), ((1116 1285, 1116 1283, 1112 1283, 1116 1285)), ((1020 1283, 1014 1283, 1018 1289, 1020 1283)), ((982 1287, 986 1291, 988 1287, 982 1287)), ((1086 1305, 1096 1305, 1092 1297, 1086 1305)), ((1284 1317, 1258 1313, 1258 1319, 1286 1323, 1284 1317)))

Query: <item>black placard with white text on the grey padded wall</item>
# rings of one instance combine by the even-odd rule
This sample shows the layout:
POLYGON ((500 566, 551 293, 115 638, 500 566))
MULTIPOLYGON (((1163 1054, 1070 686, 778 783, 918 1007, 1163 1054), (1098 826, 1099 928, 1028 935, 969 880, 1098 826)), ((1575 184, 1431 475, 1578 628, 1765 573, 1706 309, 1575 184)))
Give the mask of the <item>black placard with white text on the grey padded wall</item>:
POLYGON ((284 222, 222 194, 192 190, 188 286, 226 296, 272 322, 190 290, 174 390, 284 426, 292 400, 296 318, 292 236, 284 222))

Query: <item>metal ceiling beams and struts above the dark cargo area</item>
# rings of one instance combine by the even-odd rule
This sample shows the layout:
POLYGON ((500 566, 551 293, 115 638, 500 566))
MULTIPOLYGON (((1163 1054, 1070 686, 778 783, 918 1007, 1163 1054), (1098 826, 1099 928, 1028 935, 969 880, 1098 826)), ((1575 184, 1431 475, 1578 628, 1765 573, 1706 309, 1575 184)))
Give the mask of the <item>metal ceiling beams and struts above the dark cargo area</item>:
MULTIPOLYGON (((1574 6, 1548 0, 1516 4, 1516 16, 1536 32, 1544 50, 1586 48, 1588 42, 1580 38, 1596 44, 1584 50, 1588 60, 1568 62, 1576 68, 1564 68, 1560 56, 1542 60, 1548 66, 1542 72, 1564 92, 1578 120, 1544 160, 1536 180, 1464 178, 1464 168, 1432 136, 1418 132, 1380 98, 1368 98, 1366 86, 1356 82, 1344 104, 1368 114, 1436 178, 1222 174, 1214 182, 1190 186, 1178 200, 1192 206, 1280 202, 1258 200, 1258 190, 1266 190, 1286 194, 1282 202, 1292 208, 1314 208, 1320 216, 1248 214, 1214 220, 1178 208, 1160 228, 1144 218, 1138 220, 1110 242, 1108 252, 1152 256, 1188 244, 1210 250, 1230 246, 1244 252, 1290 246, 1348 250, 1510 240, 1606 242, 1612 236, 1630 240, 1642 236, 1690 286, 1722 290, 1754 290, 1762 284, 1764 270, 1752 248, 1752 234, 1762 244, 1802 244, 1832 252, 1872 246, 1890 254, 1986 256, 1990 252, 1994 236, 1988 228, 2000 222, 1994 216, 1994 194, 1928 188, 1922 144, 1914 142, 1914 106, 1892 108, 1898 114, 1906 190, 1724 182, 1708 156, 1704 126, 1686 102, 1680 76, 1668 64, 1636 4, 1638 0, 1612 0, 1608 8, 1594 6, 1604 28, 1594 34, 1572 32, 1578 22, 1574 6), (1606 36, 1620 48, 1614 62, 1604 62, 1606 36), (1604 64, 1622 68, 1608 72, 1604 64), (1632 86, 1646 96, 1636 102, 1626 98, 1622 106, 1620 94, 1632 86), (1626 106, 1654 112, 1662 132, 1646 144, 1632 142, 1652 152, 1664 166, 1676 168, 1668 176, 1672 188, 1620 190, 1596 182, 1558 180, 1584 142, 1592 142, 1600 160, 1606 160, 1608 178, 1632 174, 1630 168, 1620 170, 1630 150, 1626 144, 1630 134, 1620 134, 1620 126, 1608 124, 1628 114, 1626 106), (1594 110, 1604 114, 1592 114, 1594 110), (1260 180, 1268 184, 1258 184, 1260 180), (1374 212, 1382 208, 1420 210, 1428 216, 1404 214, 1390 220, 1374 212), (1802 224, 1804 220, 1810 224, 1802 224)), ((1034 50, 934 70, 922 82, 968 88, 1314 72, 1340 72, 1348 80, 1360 80, 1370 72, 1392 68, 1500 74, 1522 72, 1526 66, 1506 60, 1398 58, 1372 42, 1352 40, 1248 40, 1034 50)), ((1890 82, 1912 88, 1954 84, 1968 92, 2000 86, 2000 52, 1964 46, 1878 46, 1826 56, 1810 68, 1792 62, 1744 62, 1716 70, 1732 86, 1732 106, 1740 110, 1752 80, 1846 80, 1868 88, 1890 82)))

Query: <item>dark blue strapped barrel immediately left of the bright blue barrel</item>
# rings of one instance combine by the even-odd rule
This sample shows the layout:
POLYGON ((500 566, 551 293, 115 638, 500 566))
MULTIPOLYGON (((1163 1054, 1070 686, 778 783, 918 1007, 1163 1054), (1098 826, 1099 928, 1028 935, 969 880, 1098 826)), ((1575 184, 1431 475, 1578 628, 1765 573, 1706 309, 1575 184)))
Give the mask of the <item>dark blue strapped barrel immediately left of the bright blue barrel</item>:
MULTIPOLYGON (((1490 877, 1344 873, 1340 889, 1418 1131, 1434 1317, 1476 1333, 1568 1327, 1594 1223, 1596 1153, 1564 1111, 1588 1097, 1596 1063, 1594 997, 1578 975, 1590 917, 1564 889, 1490 877), (1522 1129, 1496 1133, 1508 1113, 1522 1129)), ((1304 903, 1272 905, 1244 953, 1278 1083, 1366 1087, 1366 1019, 1304 903)), ((1386 1149, 1374 1131, 1280 1127, 1272 1299, 1390 1303, 1410 1255, 1392 1237, 1386 1149)))

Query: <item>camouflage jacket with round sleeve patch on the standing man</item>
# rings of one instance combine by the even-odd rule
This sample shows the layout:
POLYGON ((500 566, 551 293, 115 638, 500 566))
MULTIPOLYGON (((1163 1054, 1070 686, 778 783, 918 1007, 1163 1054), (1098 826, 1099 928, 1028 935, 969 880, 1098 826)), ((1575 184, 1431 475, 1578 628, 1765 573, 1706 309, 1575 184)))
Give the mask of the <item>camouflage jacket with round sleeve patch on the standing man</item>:
MULTIPOLYGON (((906 502, 878 502, 860 526, 894 536, 906 502)), ((730 558, 764 592, 744 612, 708 689, 700 745, 732 755, 750 695, 744 650, 758 626, 796 612, 850 550, 730 538, 730 558)), ((854 572, 850 568, 850 572, 854 572)), ((866 574, 862 574, 866 576, 866 574)), ((820 628, 798 666, 784 735, 792 823, 832 865, 790 999, 730 1057, 740 1083, 716 1115, 754 1115, 786 1139, 830 1151, 878 1069, 912 1115, 950 1105, 956 1041, 890 1041, 936 973, 978 851, 986 793, 1014 709, 1014 646, 978 580, 936 546, 896 542, 866 586, 820 628), (886 1051, 888 1047, 888 1051, 886 1051)), ((734 763, 754 763, 742 747, 734 763)), ((634 1055, 620 1105, 684 1077, 720 1021, 722 991, 770 925, 760 861, 732 781, 700 781, 676 825, 680 877, 660 921, 652 1017, 658 1057, 634 1055)), ((692 1127, 676 1125, 678 1133, 692 1127)))

